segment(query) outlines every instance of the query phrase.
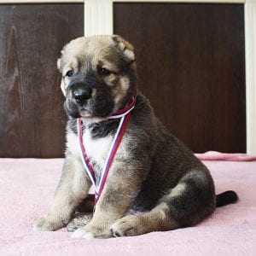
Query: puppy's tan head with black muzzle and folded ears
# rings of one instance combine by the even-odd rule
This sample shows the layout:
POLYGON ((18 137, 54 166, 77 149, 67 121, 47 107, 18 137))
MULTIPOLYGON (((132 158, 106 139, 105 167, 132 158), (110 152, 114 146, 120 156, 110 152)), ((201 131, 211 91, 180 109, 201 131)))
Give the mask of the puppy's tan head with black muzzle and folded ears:
POLYGON ((64 106, 73 118, 106 119, 136 90, 133 47, 119 36, 74 39, 62 49, 57 66, 64 106))

